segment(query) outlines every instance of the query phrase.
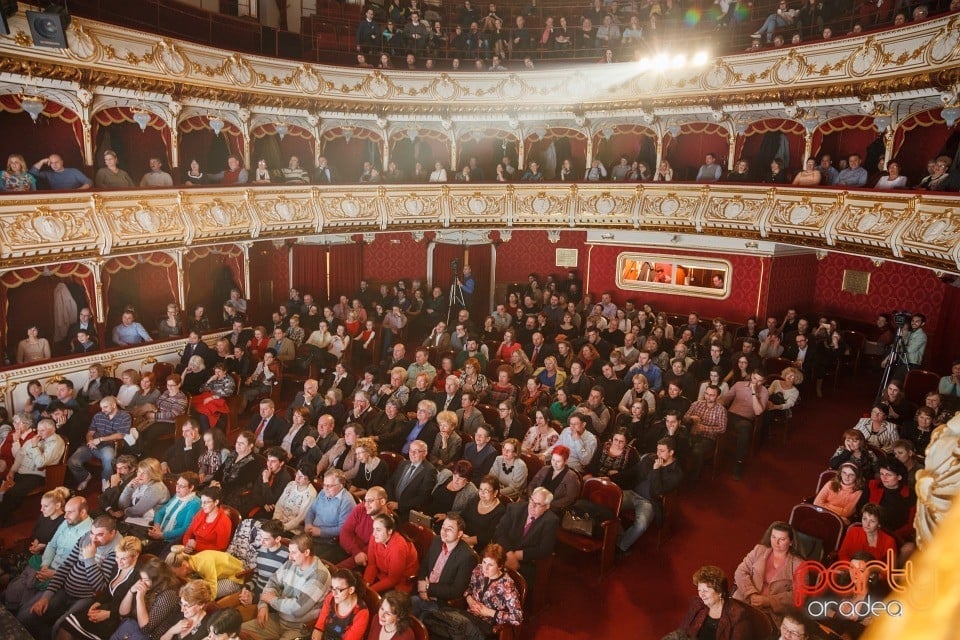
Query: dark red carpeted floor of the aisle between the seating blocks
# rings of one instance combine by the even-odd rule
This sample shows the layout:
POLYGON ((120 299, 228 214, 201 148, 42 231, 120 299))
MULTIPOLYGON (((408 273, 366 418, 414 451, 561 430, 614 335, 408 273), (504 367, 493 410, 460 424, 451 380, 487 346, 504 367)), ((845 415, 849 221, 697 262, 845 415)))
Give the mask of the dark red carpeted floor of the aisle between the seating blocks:
MULTIPOLYGON (((803 398, 789 441, 784 444, 778 431, 748 461, 742 480, 732 475, 730 455, 716 481, 709 479, 708 467, 696 489, 681 493, 673 535, 663 546, 656 548, 656 532, 649 531, 602 583, 594 577, 596 555, 561 548, 546 586, 549 606, 524 624, 523 637, 655 639, 676 628, 696 593, 693 572, 715 564, 732 583, 734 569, 767 525, 786 520, 794 504, 814 493, 840 434, 869 410, 877 382, 861 374, 843 380, 846 390, 836 395, 803 398)), ((91 500, 96 493, 86 491, 91 500)), ((22 513, 37 513, 38 505, 38 499, 28 500, 22 513)), ((0 530, 0 539, 9 544, 28 535, 33 521, 32 515, 24 516, 0 530)))

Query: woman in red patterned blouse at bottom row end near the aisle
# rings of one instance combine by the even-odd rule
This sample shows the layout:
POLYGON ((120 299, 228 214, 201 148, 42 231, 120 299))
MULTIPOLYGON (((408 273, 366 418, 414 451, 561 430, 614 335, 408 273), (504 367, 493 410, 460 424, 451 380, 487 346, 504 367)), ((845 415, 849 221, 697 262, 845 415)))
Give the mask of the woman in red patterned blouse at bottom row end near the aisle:
POLYGON ((523 603, 516 583, 507 573, 506 559, 507 553, 499 544, 487 545, 464 593, 467 610, 443 608, 437 613, 428 613, 424 616, 427 630, 431 622, 438 619, 446 619, 443 623, 446 628, 451 618, 472 625, 476 629, 475 637, 480 638, 493 635, 497 625, 519 627, 523 622, 523 603))

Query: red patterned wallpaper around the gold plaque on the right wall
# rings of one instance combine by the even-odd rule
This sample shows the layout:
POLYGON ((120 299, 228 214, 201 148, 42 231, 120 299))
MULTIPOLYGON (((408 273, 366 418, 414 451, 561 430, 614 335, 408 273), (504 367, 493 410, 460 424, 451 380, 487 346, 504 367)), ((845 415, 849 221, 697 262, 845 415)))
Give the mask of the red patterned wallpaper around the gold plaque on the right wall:
POLYGON ((934 333, 943 304, 945 285, 929 269, 884 262, 873 266, 867 258, 829 254, 818 263, 814 307, 852 320, 873 321, 877 314, 907 309, 927 316, 927 333, 934 333), (870 273, 867 295, 841 291, 844 269, 870 273))

